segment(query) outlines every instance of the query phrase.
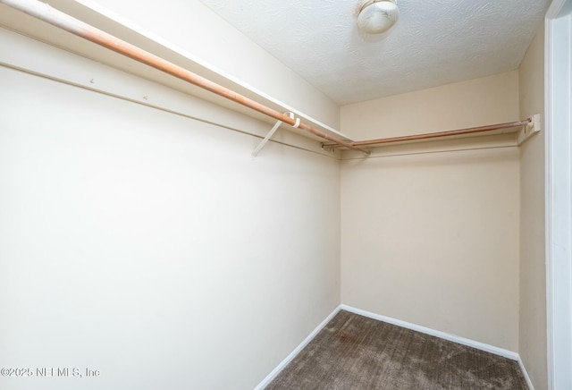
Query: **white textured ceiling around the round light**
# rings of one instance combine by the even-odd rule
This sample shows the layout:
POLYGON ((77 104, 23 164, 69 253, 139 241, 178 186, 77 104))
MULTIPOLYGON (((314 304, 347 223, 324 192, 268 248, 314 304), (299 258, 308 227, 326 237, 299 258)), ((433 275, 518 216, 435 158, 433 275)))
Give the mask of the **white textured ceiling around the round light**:
POLYGON ((364 0, 201 0, 338 104, 517 68, 550 0, 398 0, 383 37, 357 30, 364 0))

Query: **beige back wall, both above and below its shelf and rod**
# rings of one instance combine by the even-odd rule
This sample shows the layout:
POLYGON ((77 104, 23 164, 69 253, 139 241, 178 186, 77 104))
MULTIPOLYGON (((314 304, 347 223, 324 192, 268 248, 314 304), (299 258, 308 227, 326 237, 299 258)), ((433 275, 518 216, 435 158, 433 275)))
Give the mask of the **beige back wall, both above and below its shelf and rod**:
MULTIPOLYGON (((514 121, 517 99, 508 72, 344 106, 341 130, 514 121)), ((517 352, 518 158, 509 147, 343 161, 342 303, 517 352)))

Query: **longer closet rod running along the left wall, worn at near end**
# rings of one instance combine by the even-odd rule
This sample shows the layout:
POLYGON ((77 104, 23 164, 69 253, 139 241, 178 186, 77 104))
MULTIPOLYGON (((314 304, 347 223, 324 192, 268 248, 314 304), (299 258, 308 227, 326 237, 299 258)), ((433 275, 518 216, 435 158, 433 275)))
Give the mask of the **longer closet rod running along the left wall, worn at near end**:
MULTIPOLYGON (((71 32, 81 38, 88 39, 99 46, 106 47, 116 53, 128 56, 139 63, 146 64, 161 72, 168 73, 182 81, 187 81, 199 88, 206 89, 216 95, 225 97, 242 106, 255 110, 258 113, 265 114, 292 126, 297 123, 296 118, 292 118, 287 114, 282 114, 271 107, 262 105, 248 97, 234 92, 231 89, 227 89, 222 85, 209 81, 196 73, 189 72, 179 65, 172 64, 157 55, 153 55, 139 47, 131 45, 130 43, 125 42, 120 38, 116 38, 113 35, 99 30, 83 21, 79 21, 67 13, 62 13, 46 3, 42 3, 38 0, 0 0, 0 3, 9 5, 22 13, 27 13, 41 21, 46 21, 55 27, 71 32)), ((308 131, 324 140, 330 140, 333 142, 333 145, 340 148, 350 148, 365 153, 366 155, 370 154, 369 150, 354 146, 351 142, 332 137, 330 134, 316 130, 314 127, 306 123, 299 123, 298 128, 308 131)))

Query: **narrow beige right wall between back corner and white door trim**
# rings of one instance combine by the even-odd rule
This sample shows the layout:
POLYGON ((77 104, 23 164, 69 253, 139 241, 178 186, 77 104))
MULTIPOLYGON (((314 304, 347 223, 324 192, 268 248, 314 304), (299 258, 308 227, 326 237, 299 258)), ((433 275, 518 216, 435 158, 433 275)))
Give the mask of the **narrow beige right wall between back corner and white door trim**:
MULTIPOLYGON (((519 68, 520 115, 544 113, 544 26, 519 68)), ((542 115, 544 117, 544 115, 542 115)), ((544 128, 543 128, 544 130, 544 128)), ((536 390, 548 386, 544 251, 544 132, 520 147, 519 352, 536 390)))

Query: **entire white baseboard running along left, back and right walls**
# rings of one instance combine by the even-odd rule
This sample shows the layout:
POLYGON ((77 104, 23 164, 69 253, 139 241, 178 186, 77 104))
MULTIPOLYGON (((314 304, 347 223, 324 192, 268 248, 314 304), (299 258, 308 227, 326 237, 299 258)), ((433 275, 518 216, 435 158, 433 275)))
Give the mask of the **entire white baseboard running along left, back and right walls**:
POLYGON ((411 324, 410 322, 402 321, 400 319, 382 316, 381 314, 375 314, 375 313, 372 313, 371 311, 357 309, 357 308, 354 308, 354 307, 351 307, 348 305, 343 305, 343 304, 338 306, 336 309, 334 309, 332 311, 332 313, 330 313, 330 315, 327 318, 325 318, 324 321, 322 321, 322 323, 320 325, 316 326, 315 329, 312 331, 312 333, 310 333, 304 339, 304 341, 302 343, 299 343, 299 346, 297 346, 294 349, 294 351, 290 352, 290 355, 288 355, 284 360, 282 360, 280 362, 280 364, 278 366, 276 366, 276 368, 273 369, 273 371, 270 374, 268 374, 268 376, 265 377, 262 380, 262 382, 260 382, 258 384, 258 386, 255 387, 254 390, 263 390, 265 388, 265 386, 268 386, 270 384, 270 382, 272 382, 273 379, 275 377, 277 377, 278 374, 280 374, 282 369, 284 369, 290 363, 290 361, 292 361, 296 357, 296 355, 298 355, 299 352, 301 352, 304 349, 304 347, 306 347, 306 345, 312 341, 312 339, 314 339, 315 335, 317 335, 324 328, 324 326, 326 326, 326 324, 328 322, 330 322, 332 320, 332 318, 340 312, 340 310, 346 310, 346 311, 349 311, 351 313, 358 314, 360 316, 364 316, 367 318, 374 318, 374 319, 377 319, 379 321, 387 322, 389 324, 393 324, 393 325, 405 327, 407 329, 415 330, 416 332, 421 332, 421 333, 424 333, 425 335, 433 335, 435 337, 439 337, 439 338, 442 338, 444 340, 449 340, 453 343, 459 343, 462 345, 467 345, 469 347, 476 348, 477 350, 494 353, 495 355, 500 355, 500 356, 508 358, 510 360, 516 360, 518 362, 518 366, 520 366, 520 369, 522 370, 523 375, 525 376, 526 384, 528 385, 530 390, 534 390, 534 386, 530 380, 530 377, 528 377, 528 373, 526 372, 525 365, 523 364, 522 360, 520 359, 520 355, 518 355, 517 352, 505 350, 503 348, 495 347, 495 346, 487 344, 487 343, 481 343, 481 342, 477 342, 475 340, 470 340, 470 339, 467 339, 465 337, 461 337, 458 335, 450 335, 448 333, 441 332, 439 330, 434 330, 434 329, 431 329, 429 327, 411 324))

